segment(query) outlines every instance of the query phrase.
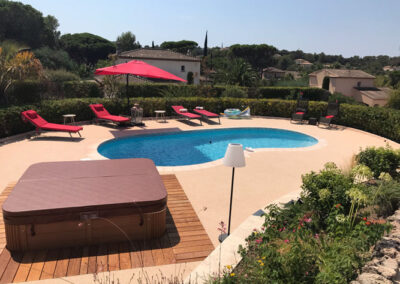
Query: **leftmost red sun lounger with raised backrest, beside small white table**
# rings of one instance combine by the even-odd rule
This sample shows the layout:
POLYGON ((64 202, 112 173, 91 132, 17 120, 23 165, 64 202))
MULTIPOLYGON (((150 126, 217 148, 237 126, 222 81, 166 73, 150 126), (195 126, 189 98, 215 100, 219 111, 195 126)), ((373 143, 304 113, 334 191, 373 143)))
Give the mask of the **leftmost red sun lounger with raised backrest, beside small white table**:
POLYGON ((22 120, 24 122, 30 122, 33 126, 36 127, 36 133, 39 135, 40 131, 62 131, 69 132, 69 135, 72 137, 71 133, 78 133, 79 137, 81 134, 79 131, 83 129, 81 126, 74 125, 64 125, 64 124, 56 124, 56 123, 48 123, 44 120, 40 115, 37 114, 34 110, 27 110, 21 113, 22 120))

